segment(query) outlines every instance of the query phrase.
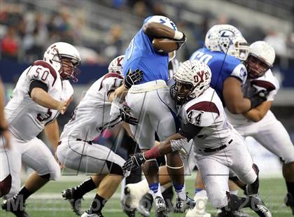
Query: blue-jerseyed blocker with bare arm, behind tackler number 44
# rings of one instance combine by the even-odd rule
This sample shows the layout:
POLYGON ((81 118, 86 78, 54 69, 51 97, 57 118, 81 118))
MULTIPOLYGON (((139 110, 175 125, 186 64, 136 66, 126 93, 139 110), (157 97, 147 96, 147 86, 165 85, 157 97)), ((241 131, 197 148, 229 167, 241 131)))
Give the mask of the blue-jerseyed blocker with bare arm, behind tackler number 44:
MULTIPOLYGON (((216 90, 223 106, 231 113, 244 113, 261 104, 265 99, 258 94, 248 99, 241 90, 241 85, 247 77, 247 70, 242 61, 246 60, 249 50, 241 32, 232 25, 214 25, 207 32, 204 43, 204 48, 196 50, 190 59, 198 59, 208 64, 212 73, 211 87, 216 90)), ((201 179, 197 178, 195 198, 197 193, 203 195, 201 179)), ((242 183, 239 185, 244 188, 242 183)), ((188 211, 187 216, 190 216, 190 212, 193 211, 188 211)), ((239 211, 235 211, 234 215, 245 216, 239 211)))

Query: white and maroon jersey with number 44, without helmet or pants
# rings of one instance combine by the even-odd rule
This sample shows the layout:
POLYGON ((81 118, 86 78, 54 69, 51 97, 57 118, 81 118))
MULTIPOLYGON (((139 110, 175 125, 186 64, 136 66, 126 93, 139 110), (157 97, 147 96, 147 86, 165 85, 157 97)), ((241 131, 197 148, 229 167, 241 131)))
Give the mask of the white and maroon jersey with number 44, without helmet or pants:
POLYGON ((194 137, 197 148, 214 148, 228 144, 232 133, 237 133, 227 122, 221 99, 211 87, 181 106, 179 118, 182 125, 190 123, 202 127, 194 137))

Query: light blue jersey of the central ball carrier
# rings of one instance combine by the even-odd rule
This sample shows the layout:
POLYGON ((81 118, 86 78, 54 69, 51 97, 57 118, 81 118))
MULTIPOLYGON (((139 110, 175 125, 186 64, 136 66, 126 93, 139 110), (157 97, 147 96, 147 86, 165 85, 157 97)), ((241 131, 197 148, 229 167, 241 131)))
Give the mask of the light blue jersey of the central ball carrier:
MULTIPOLYGON (((152 17, 146 18, 144 24, 152 17)), ((152 80, 165 80, 169 76, 167 53, 157 52, 152 45, 153 37, 147 36, 141 28, 132 39, 125 52, 123 62, 123 75, 126 76, 129 69, 141 69, 144 71, 141 83, 152 80)))

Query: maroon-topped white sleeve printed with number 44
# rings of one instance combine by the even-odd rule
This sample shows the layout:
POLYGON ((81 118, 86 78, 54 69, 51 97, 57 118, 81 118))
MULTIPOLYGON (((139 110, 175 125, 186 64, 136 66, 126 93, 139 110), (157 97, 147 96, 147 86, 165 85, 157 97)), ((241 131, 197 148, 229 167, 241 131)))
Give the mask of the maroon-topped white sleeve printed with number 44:
POLYGON ((188 123, 198 127, 214 124, 219 115, 218 107, 213 102, 198 102, 186 109, 188 123))

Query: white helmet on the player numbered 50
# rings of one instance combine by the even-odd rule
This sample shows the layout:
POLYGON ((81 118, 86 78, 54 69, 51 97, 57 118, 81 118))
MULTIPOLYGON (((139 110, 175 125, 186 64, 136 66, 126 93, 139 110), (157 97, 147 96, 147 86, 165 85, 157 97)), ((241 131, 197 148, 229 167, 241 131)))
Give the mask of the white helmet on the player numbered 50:
POLYGON ((80 54, 73 45, 65 42, 57 42, 50 45, 44 53, 43 60, 48 62, 55 71, 59 72, 64 80, 72 78, 76 82, 80 73, 80 54), (62 62, 62 59, 69 59, 72 66, 62 62))

